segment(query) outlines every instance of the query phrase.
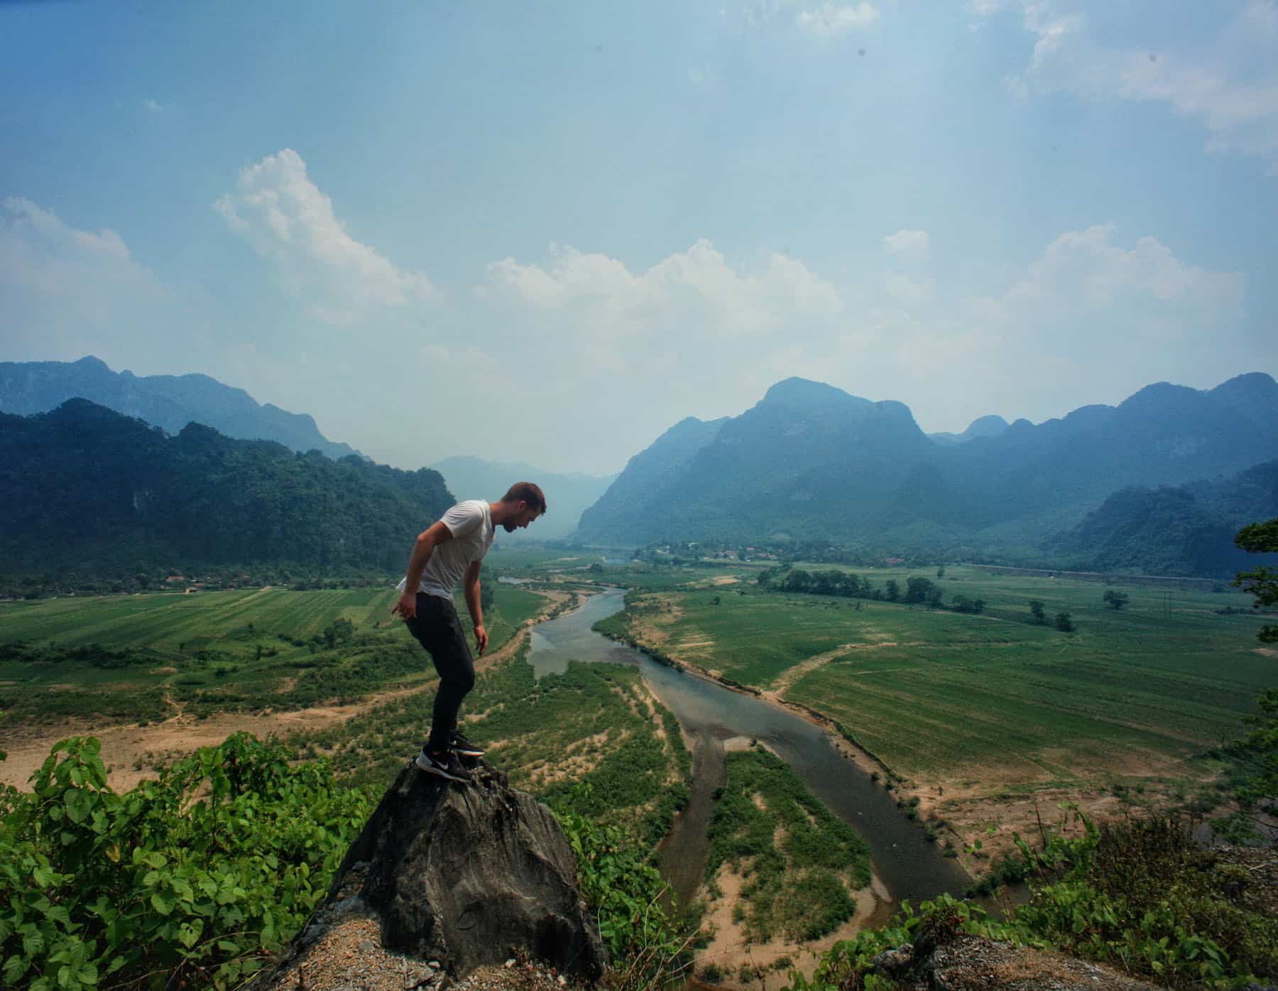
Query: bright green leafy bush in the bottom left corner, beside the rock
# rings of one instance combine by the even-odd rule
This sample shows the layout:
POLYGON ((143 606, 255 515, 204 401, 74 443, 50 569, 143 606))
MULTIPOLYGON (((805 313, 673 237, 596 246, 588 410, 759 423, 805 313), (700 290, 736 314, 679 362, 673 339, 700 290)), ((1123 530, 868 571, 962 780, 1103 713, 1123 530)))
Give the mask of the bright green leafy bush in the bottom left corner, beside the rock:
POLYGON ((0 803, 5 985, 227 988, 259 969, 369 812, 290 757, 235 734, 116 794, 97 739, 54 747, 33 792, 0 803))

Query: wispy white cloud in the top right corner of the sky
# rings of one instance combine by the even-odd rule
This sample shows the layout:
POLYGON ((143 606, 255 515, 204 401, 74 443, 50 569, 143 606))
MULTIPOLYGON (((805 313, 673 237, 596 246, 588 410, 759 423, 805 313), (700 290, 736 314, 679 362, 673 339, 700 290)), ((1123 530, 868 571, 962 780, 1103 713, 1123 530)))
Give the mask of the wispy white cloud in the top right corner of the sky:
POLYGON ((1278 174, 1278 4, 1273 0, 1250 0, 1217 37, 1203 38, 1192 50, 1157 54, 1105 43, 1082 12, 1063 10, 1053 0, 1021 0, 1021 6, 1035 42, 1030 64, 1007 81, 1017 96, 1065 90, 1091 98, 1166 104, 1206 128, 1208 151, 1260 157, 1278 174))

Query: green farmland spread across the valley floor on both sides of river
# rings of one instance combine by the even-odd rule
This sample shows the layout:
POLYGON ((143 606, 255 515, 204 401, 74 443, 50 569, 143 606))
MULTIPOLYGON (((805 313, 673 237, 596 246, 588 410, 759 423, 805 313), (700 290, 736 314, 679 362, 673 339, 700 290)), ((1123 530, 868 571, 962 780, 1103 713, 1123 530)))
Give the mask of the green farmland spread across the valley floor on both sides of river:
MULTIPOLYGON (((997 826, 1011 803, 1026 799, 1016 816, 1033 815, 1034 795, 1212 804, 1219 766, 1205 752, 1240 733, 1273 683, 1275 660, 1255 643, 1263 619, 1232 591, 1126 584, 1130 600, 1114 610, 1095 582, 965 566, 943 578, 933 569, 860 572, 879 588, 930 577, 947 602, 983 602, 979 614, 960 614, 768 591, 758 573, 510 550, 501 574, 533 584, 497 587, 491 651, 547 607, 544 589, 561 589, 564 601, 564 589, 587 579, 626 584, 625 614, 606 621, 615 633, 840 724, 904 779, 902 797, 920 798, 924 817, 950 821, 965 841, 997 826), (1043 604, 1045 621, 1030 601, 1043 604), (1071 614, 1072 632, 1056 629, 1058 613, 1071 614)), ((376 784, 415 749, 429 722, 431 694, 419 689, 433 683, 420 647, 390 616, 392 601, 383 588, 0 604, 5 734, 41 721, 52 730, 358 703, 340 725, 308 725, 296 742, 332 754, 350 780, 376 784)), ((610 708, 640 691, 622 684, 631 675, 611 675, 612 696, 598 694, 599 676, 574 667, 562 684, 534 687, 527 665, 498 665, 468 699, 466 711, 482 716, 472 729, 516 780, 551 793, 557 785, 538 761, 555 748, 571 758, 566 776, 575 779, 649 731, 665 733, 656 708, 642 731, 610 708), (516 696, 538 701, 520 708, 516 696), (611 730, 592 730, 597 724, 611 730), (579 738, 593 742, 575 745, 579 738)), ((627 705, 638 719, 636 698, 627 705)), ((647 800, 631 806, 654 823, 647 800)))

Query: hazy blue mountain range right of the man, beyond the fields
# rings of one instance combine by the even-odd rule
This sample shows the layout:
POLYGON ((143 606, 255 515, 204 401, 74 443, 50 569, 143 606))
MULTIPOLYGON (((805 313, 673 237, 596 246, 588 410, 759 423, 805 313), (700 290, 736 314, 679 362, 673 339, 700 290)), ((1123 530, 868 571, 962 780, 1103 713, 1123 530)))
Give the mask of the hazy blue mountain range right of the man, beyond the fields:
POLYGON ((787 378, 737 417, 666 431, 581 515, 578 540, 828 538, 1038 560, 1118 490, 1220 481, 1278 458, 1278 384, 1263 372, 1210 390, 1159 382, 1116 407, 985 423, 962 442, 933 439, 901 403, 787 378))

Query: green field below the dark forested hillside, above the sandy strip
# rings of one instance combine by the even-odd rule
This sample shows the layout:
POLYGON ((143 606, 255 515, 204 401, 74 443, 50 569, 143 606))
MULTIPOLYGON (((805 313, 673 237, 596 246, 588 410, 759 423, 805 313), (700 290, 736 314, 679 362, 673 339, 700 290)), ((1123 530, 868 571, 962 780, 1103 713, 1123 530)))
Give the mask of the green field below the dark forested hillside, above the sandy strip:
MULTIPOLYGON (((4 602, 0 712, 14 721, 155 720, 178 708, 351 701, 429 680, 429 657, 390 614, 395 598, 394 588, 270 588, 4 602)), ((544 601, 498 586, 484 616, 489 650, 544 601)))

